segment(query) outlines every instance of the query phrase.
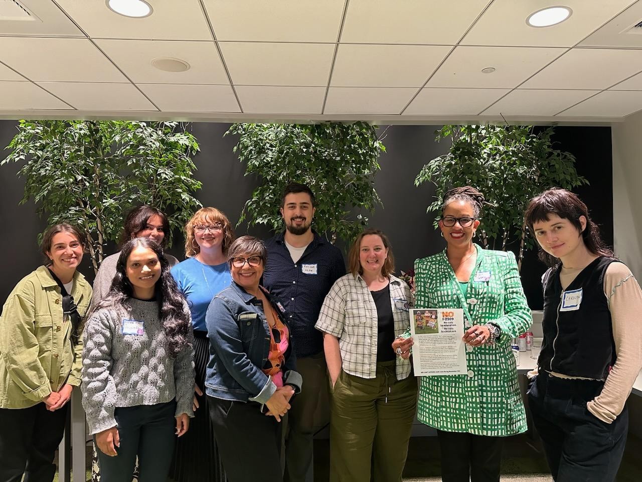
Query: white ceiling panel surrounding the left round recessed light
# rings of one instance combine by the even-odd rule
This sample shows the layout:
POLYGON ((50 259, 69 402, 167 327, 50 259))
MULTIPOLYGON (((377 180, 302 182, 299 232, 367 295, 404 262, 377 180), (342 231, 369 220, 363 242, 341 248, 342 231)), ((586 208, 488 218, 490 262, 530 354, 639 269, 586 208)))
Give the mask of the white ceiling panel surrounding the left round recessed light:
POLYGON ((135 19, 107 8, 104 0, 56 0, 92 38, 213 40, 198 0, 149 2, 152 15, 135 19))

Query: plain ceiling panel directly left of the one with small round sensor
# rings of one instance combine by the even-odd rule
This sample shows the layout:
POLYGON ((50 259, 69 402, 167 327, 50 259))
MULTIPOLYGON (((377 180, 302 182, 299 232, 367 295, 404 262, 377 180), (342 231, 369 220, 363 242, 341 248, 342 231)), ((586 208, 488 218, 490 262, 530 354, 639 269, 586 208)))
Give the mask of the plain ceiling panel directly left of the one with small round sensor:
POLYGON ((336 87, 421 87, 451 51, 449 46, 339 46, 331 85, 336 87))

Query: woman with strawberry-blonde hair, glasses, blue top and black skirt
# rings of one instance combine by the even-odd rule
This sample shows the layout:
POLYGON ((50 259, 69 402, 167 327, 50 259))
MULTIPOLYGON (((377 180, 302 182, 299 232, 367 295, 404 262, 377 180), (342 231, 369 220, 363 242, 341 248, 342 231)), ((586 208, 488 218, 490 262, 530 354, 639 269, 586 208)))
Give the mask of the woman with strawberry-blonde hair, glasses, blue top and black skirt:
POLYGON ((177 443, 170 475, 180 482, 220 481, 225 476, 214 442, 207 398, 203 396, 205 366, 209 359, 205 312, 214 296, 232 282, 227 248, 234 240, 234 231, 224 213, 216 208, 202 208, 187 222, 185 239, 187 259, 175 265, 171 274, 185 295, 192 314, 195 418, 191 420, 189 433, 177 443))

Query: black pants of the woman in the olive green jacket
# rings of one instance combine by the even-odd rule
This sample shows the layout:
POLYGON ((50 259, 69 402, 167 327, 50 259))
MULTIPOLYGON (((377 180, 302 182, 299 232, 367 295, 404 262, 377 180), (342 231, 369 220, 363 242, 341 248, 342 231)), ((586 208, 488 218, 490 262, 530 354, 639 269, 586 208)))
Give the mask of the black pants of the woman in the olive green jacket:
POLYGON ((0 482, 51 482, 56 449, 65 431, 69 404, 50 412, 44 403, 0 408, 0 482))

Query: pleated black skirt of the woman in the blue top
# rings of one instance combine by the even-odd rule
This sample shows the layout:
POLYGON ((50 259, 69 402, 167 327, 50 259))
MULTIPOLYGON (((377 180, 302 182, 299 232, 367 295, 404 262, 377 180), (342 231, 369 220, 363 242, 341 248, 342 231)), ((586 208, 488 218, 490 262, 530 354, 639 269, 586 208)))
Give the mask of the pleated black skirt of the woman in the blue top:
POLYGON ((209 360, 207 332, 194 332, 196 384, 203 391, 189 430, 178 438, 169 477, 177 482, 225 482, 225 470, 216 448, 214 430, 205 396, 205 367, 209 360))

